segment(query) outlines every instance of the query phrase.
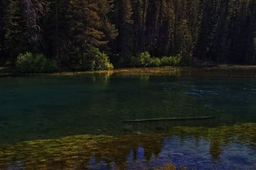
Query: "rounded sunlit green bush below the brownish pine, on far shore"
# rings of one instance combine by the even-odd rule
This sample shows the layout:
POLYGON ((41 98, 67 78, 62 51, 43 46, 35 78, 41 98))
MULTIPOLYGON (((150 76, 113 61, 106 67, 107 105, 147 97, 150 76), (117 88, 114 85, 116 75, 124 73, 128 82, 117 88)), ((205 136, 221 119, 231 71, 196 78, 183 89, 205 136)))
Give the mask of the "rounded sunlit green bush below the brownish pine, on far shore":
POLYGON ((79 63, 74 66, 76 70, 96 71, 113 69, 113 64, 109 61, 106 53, 101 53, 99 48, 90 48, 83 53, 79 63))

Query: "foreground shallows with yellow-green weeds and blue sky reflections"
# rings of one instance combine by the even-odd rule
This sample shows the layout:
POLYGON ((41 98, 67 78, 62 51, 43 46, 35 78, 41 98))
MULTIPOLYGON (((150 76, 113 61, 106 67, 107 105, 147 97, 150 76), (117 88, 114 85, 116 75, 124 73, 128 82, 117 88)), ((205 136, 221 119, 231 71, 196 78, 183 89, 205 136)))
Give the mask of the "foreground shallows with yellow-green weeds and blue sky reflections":
POLYGON ((173 127, 167 134, 70 136, 5 145, 0 169, 255 169, 256 124, 173 127))

